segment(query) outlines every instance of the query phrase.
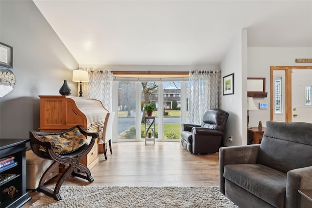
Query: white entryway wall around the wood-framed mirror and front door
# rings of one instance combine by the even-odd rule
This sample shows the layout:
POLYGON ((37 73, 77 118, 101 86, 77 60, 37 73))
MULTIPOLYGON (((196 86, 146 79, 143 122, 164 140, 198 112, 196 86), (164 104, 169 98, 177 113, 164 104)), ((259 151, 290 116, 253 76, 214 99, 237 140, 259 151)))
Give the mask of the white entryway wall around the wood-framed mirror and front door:
POLYGON ((312 47, 305 48, 271 48, 271 47, 248 47, 248 71, 247 77, 265 77, 265 98, 254 98, 254 103, 266 102, 268 109, 249 112, 249 126, 266 126, 270 120, 270 66, 312 66, 312 63, 295 63, 296 58, 311 58, 312 47))

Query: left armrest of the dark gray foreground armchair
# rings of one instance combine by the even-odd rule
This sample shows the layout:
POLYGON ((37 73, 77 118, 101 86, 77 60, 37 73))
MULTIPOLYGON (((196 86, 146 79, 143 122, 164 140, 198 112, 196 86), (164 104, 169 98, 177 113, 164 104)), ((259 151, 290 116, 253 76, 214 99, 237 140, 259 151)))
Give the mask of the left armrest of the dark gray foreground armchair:
POLYGON ((256 163, 259 144, 234 147, 221 147, 219 149, 219 190, 225 194, 223 177, 224 166, 228 164, 256 163))

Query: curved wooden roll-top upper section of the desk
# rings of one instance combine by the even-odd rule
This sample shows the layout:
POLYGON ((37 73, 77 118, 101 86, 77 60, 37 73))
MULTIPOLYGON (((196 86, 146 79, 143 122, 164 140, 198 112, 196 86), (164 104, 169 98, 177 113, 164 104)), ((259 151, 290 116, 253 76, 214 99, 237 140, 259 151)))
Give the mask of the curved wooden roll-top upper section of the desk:
POLYGON ((40 129, 71 128, 82 125, 90 128, 103 125, 108 115, 107 109, 97 99, 65 96, 39 95, 40 97, 40 129))

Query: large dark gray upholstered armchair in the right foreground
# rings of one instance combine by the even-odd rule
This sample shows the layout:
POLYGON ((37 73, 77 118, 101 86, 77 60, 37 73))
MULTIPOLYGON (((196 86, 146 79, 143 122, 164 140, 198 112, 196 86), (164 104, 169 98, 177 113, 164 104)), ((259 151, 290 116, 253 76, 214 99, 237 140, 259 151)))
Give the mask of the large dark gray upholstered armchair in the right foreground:
POLYGON ((219 150, 220 191, 240 208, 312 208, 312 124, 268 121, 261 144, 219 150))

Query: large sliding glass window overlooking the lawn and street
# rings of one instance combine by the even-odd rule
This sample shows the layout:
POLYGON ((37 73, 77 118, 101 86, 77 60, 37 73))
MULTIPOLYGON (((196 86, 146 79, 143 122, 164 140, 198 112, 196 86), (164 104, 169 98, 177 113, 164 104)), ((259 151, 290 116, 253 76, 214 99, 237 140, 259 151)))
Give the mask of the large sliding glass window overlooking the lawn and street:
MULTIPOLYGON (((181 81, 120 80, 115 83, 118 99, 113 102, 115 106, 113 108, 118 111, 118 141, 144 140, 145 104, 156 106, 156 111, 153 112, 156 116, 156 140, 179 141, 181 114, 183 114, 181 107, 186 106, 186 102, 182 101, 183 96, 186 100, 186 92, 181 92, 181 81)), ((185 82, 184 85, 186 86, 185 82)))

